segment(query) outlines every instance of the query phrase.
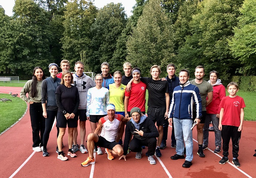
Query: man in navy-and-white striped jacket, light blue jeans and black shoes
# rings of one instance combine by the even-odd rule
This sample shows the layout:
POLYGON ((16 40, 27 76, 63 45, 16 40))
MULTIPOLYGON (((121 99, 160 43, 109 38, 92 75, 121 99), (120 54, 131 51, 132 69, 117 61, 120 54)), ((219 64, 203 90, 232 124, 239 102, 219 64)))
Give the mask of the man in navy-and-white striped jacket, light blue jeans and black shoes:
POLYGON ((199 89, 192 85, 189 79, 189 72, 182 69, 179 73, 180 86, 173 90, 172 103, 169 110, 169 123, 173 122, 176 138, 176 152, 171 159, 185 159, 182 167, 190 167, 193 159, 193 138, 192 138, 192 119, 193 103, 196 103, 196 124, 200 123, 202 116, 202 101, 199 89), (184 141, 186 145, 186 158, 184 157, 184 141))

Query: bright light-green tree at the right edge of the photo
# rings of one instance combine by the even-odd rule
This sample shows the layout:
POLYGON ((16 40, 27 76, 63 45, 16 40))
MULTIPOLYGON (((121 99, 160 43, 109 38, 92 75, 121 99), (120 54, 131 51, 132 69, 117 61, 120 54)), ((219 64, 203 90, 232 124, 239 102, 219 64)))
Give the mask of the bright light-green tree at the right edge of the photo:
POLYGON ((239 72, 244 75, 256 74, 256 0, 245 0, 240 8, 241 16, 229 40, 231 55, 243 66, 239 72))

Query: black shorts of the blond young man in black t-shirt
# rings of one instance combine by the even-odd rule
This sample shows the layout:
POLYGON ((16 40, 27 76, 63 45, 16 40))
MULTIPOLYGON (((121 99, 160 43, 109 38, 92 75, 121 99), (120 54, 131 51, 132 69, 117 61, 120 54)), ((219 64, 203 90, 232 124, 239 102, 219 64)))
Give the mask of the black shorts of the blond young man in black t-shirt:
POLYGON ((165 123, 165 111, 166 108, 164 107, 148 107, 147 115, 154 123, 157 122, 157 126, 163 126, 165 123))

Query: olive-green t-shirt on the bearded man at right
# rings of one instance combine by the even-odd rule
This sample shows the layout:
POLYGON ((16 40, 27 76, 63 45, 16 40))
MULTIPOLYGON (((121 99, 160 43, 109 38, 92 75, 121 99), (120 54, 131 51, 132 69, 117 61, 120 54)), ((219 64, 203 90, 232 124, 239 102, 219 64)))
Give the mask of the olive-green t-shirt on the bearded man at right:
MULTIPOLYGON (((202 83, 200 84, 197 84, 195 82, 195 79, 194 80, 191 80, 190 81, 191 84, 197 86, 199 88, 199 92, 200 92, 200 95, 201 95, 201 99, 202 99, 202 111, 206 111, 206 97, 207 97, 207 94, 209 92, 212 92, 213 91, 213 88, 212 88, 212 85, 209 83, 209 82, 206 82, 205 80, 203 80, 202 83)), ((195 108, 195 103, 194 103, 194 106, 193 106, 193 111, 196 110, 195 108)))

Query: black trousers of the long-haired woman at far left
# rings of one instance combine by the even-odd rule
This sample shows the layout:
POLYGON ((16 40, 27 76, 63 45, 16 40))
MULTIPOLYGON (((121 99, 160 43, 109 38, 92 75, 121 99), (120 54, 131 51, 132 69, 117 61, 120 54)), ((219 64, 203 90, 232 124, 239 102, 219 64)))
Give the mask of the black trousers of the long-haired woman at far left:
POLYGON ((29 114, 32 127, 33 147, 43 146, 45 118, 42 103, 29 104, 29 114))

